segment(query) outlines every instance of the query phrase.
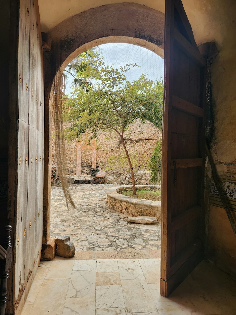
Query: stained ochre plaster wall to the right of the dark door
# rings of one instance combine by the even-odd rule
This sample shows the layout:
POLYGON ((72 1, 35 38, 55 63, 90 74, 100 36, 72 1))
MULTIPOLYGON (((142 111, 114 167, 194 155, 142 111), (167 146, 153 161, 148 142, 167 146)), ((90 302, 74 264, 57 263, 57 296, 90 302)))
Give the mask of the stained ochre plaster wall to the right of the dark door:
MULTIPOLYGON (((219 26, 213 28, 220 53, 211 66, 212 106, 215 132, 212 153, 223 181, 236 182, 236 25, 234 1, 217 1, 212 8, 219 26)), ((210 175, 208 167, 208 175, 210 175)), ((235 222, 236 213, 232 212, 235 222)), ((210 206, 207 255, 221 269, 236 275, 236 237, 224 209, 210 206)))

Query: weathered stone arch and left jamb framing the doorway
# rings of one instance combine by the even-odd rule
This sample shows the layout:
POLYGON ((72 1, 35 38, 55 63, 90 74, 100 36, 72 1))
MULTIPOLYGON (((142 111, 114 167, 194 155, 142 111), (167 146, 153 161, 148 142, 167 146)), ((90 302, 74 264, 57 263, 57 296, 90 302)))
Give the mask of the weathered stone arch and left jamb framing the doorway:
POLYGON ((43 249, 50 237, 52 84, 56 72, 86 49, 103 43, 131 43, 164 56, 164 14, 136 3, 115 3, 91 8, 57 25, 49 35, 53 43, 44 54, 45 136, 43 249), (60 49, 58 49, 60 47, 60 49), (60 50, 60 51, 58 51, 60 50), (57 61, 57 64, 55 63, 57 61))

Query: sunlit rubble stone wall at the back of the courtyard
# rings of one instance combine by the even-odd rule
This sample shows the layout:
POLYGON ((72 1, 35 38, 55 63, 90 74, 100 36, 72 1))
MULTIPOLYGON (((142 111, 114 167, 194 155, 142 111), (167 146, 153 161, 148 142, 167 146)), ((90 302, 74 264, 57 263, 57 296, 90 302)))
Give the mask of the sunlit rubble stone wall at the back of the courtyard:
MULTIPOLYGON (((65 128, 69 123, 65 123, 65 128)), ((152 123, 146 121, 144 124, 135 122, 130 125, 129 132, 125 135, 131 138, 151 138, 154 140, 142 141, 135 145, 127 143, 127 149, 131 157, 134 158, 134 172, 136 184, 150 184, 149 160, 157 139, 161 138, 161 132, 152 123)), ((104 132, 96 140, 97 166, 106 171, 106 180, 110 184, 129 184, 131 183, 131 174, 124 151, 122 147, 117 147, 119 137, 114 133, 104 132), (122 158, 122 156, 124 158, 122 158), (115 162, 112 162, 115 159, 115 162), (121 160, 121 161, 120 161, 121 160)), ((60 180, 57 172, 56 152, 54 138, 52 145, 52 185, 60 186, 60 180)), ((67 161, 67 175, 76 175, 76 142, 77 140, 65 140, 65 152, 67 161)), ((82 150, 81 152, 81 176, 90 175, 92 165, 92 150, 82 150)))

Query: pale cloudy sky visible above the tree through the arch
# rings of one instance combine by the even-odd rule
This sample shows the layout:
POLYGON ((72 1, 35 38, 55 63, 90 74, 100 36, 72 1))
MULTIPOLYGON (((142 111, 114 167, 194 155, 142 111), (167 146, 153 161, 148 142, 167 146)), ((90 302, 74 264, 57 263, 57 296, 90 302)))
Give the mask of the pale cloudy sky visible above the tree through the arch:
MULTIPOLYGON (((104 62, 113 65, 113 68, 120 68, 126 64, 136 63, 140 67, 132 67, 126 73, 127 79, 132 82, 137 80, 142 73, 146 73, 151 80, 164 77, 164 60, 154 52, 127 43, 107 43, 97 46, 100 54, 104 57, 104 62)), ((71 82, 73 77, 68 75, 70 83, 67 83, 66 93, 72 92, 71 82)))

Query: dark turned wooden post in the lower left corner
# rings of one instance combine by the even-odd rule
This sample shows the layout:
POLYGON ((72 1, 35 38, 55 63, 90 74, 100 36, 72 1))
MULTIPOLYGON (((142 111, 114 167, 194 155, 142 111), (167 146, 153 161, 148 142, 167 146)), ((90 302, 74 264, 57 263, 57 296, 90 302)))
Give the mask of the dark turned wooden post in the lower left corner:
POLYGON ((6 259, 1 263, 1 287, 0 287, 0 315, 5 315, 7 305, 7 278, 9 277, 9 270, 11 268, 12 246, 11 246, 11 226, 5 226, 6 237, 4 239, 3 247, 6 250, 6 259))

